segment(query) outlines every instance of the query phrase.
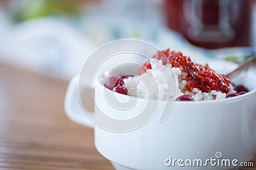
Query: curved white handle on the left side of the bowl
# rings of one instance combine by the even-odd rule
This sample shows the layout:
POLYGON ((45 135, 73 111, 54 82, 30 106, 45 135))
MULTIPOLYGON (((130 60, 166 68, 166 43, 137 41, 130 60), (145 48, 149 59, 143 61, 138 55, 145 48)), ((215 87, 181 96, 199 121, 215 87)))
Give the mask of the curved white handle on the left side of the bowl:
MULTIPOLYGON (((83 108, 81 107, 81 103, 79 100, 79 92, 78 92, 78 81, 79 76, 74 76, 68 85, 64 108, 68 118, 77 124, 86 125, 87 127, 94 128, 93 123, 86 117, 84 114, 83 108)), ((85 110, 86 113, 90 112, 85 110)))

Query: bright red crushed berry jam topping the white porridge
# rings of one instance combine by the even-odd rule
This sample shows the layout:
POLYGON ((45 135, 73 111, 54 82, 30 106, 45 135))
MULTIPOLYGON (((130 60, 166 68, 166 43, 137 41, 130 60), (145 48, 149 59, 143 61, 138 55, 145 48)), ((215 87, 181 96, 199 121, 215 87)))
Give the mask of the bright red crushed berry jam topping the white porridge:
MULTIPOLYGON (((169 49, 157 52, 153 58, 163 60, 165 65, 168 60, 172 67, 179 67, 184 73, 188 73, 185 80, 189 91, 196 88, 202 92, 211 92, 216 90, 227 94, 229 91, 230 80, 224 74, 217 74, 208 64, 202 66, 191 61, 190 57, 185 56, 181 52, 170 52, 169 49)), ((150 62, 145 62, 141 67, 140 73, 143 74, 147 69, 151 69, 150 62)))

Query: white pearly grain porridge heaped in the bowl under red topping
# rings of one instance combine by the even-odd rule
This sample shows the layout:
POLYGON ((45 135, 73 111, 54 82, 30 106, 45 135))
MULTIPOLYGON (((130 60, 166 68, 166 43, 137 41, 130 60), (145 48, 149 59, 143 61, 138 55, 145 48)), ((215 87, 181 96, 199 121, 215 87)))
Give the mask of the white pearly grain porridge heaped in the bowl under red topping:
POLYGON ((175 97, 177 92, 176 98, 187 95, 193 97, 195 101, 209 101, 225 99, 228 94, 236 92, 232 85, 230 85, 230 90, 227 94, 217 92, 216 90, 211 90, 211 92, 207 93, 196 88, 190 92, 186 87, 187 81, 185 80, 188 73, 180 71, 179 67, 170 67, 168 64, 163 65, 162 60, 152 60, 150 60, 152 69, 147 69, 147 71, 140 76, 124 78, 124 86, 128 89, 130 96, 163 100, 166 99, 166 97, 175 97), (158 66, 152 62, 152 60, 156 62, 158 66), (170 69, 172 69, 173 72, 170 69), (167 75, 166 78, 164 75, 167 75))

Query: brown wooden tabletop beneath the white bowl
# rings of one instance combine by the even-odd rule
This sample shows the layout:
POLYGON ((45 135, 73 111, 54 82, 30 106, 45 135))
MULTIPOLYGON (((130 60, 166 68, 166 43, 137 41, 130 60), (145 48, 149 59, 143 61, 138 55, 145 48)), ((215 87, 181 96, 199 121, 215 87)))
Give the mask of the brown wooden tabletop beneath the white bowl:
POLYGON ((114 169, 66 117, 67 81, 0 64, 0 82, 0 169, 114 169))

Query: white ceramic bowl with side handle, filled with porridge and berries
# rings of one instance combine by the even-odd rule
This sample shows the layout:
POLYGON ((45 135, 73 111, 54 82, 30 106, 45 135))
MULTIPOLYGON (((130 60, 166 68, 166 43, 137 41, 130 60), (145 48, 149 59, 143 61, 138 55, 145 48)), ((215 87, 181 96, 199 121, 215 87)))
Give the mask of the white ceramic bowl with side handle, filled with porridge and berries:
MULTIPOLYGON (((229 63, 220 62, 217 64, 229 63)), ((210 64, 211 65, 211 64, 210 64)), ((224 65, 223 65, 224 66, 224 65)), ((95 146, 100 154, 111 160, 116 168, 130 169, 230 169, 234 166, 173 167, 166 159, 222 159, 248 162, 255 157, 256 141, 256 73, 237 77, 250 92, 243 96, 219 101, 176 102, 171 115, 159 124, 161 111, 142 127, 130 132, 110 132, 93 125, 83 113, 78 99, 78 77, 70 81, 65 99, 68 117, 95 129, 95 146)), ((95 83, 95 100, 103 111, 109 111, 104 101, 102 84, 95 83)), ((113 93, 109 90, 109 93, 113 93)), ((120 96, 122 96, 120 94, 120 96)), ((125 96, 124 96, 125 97, 125 96)), ((145 99, 139 99, 138 103, 145 99)), ((161 102, 159 108, 161 108, 161 102)), ((94 112, 99 108, 95 106, 94 112)), ((133 110, 136 111, 136 110, 133 110)), ((118 111, 116 111, 118 113, 118 111)), ((184 162, 183 162, 184 164, 184 162)))

